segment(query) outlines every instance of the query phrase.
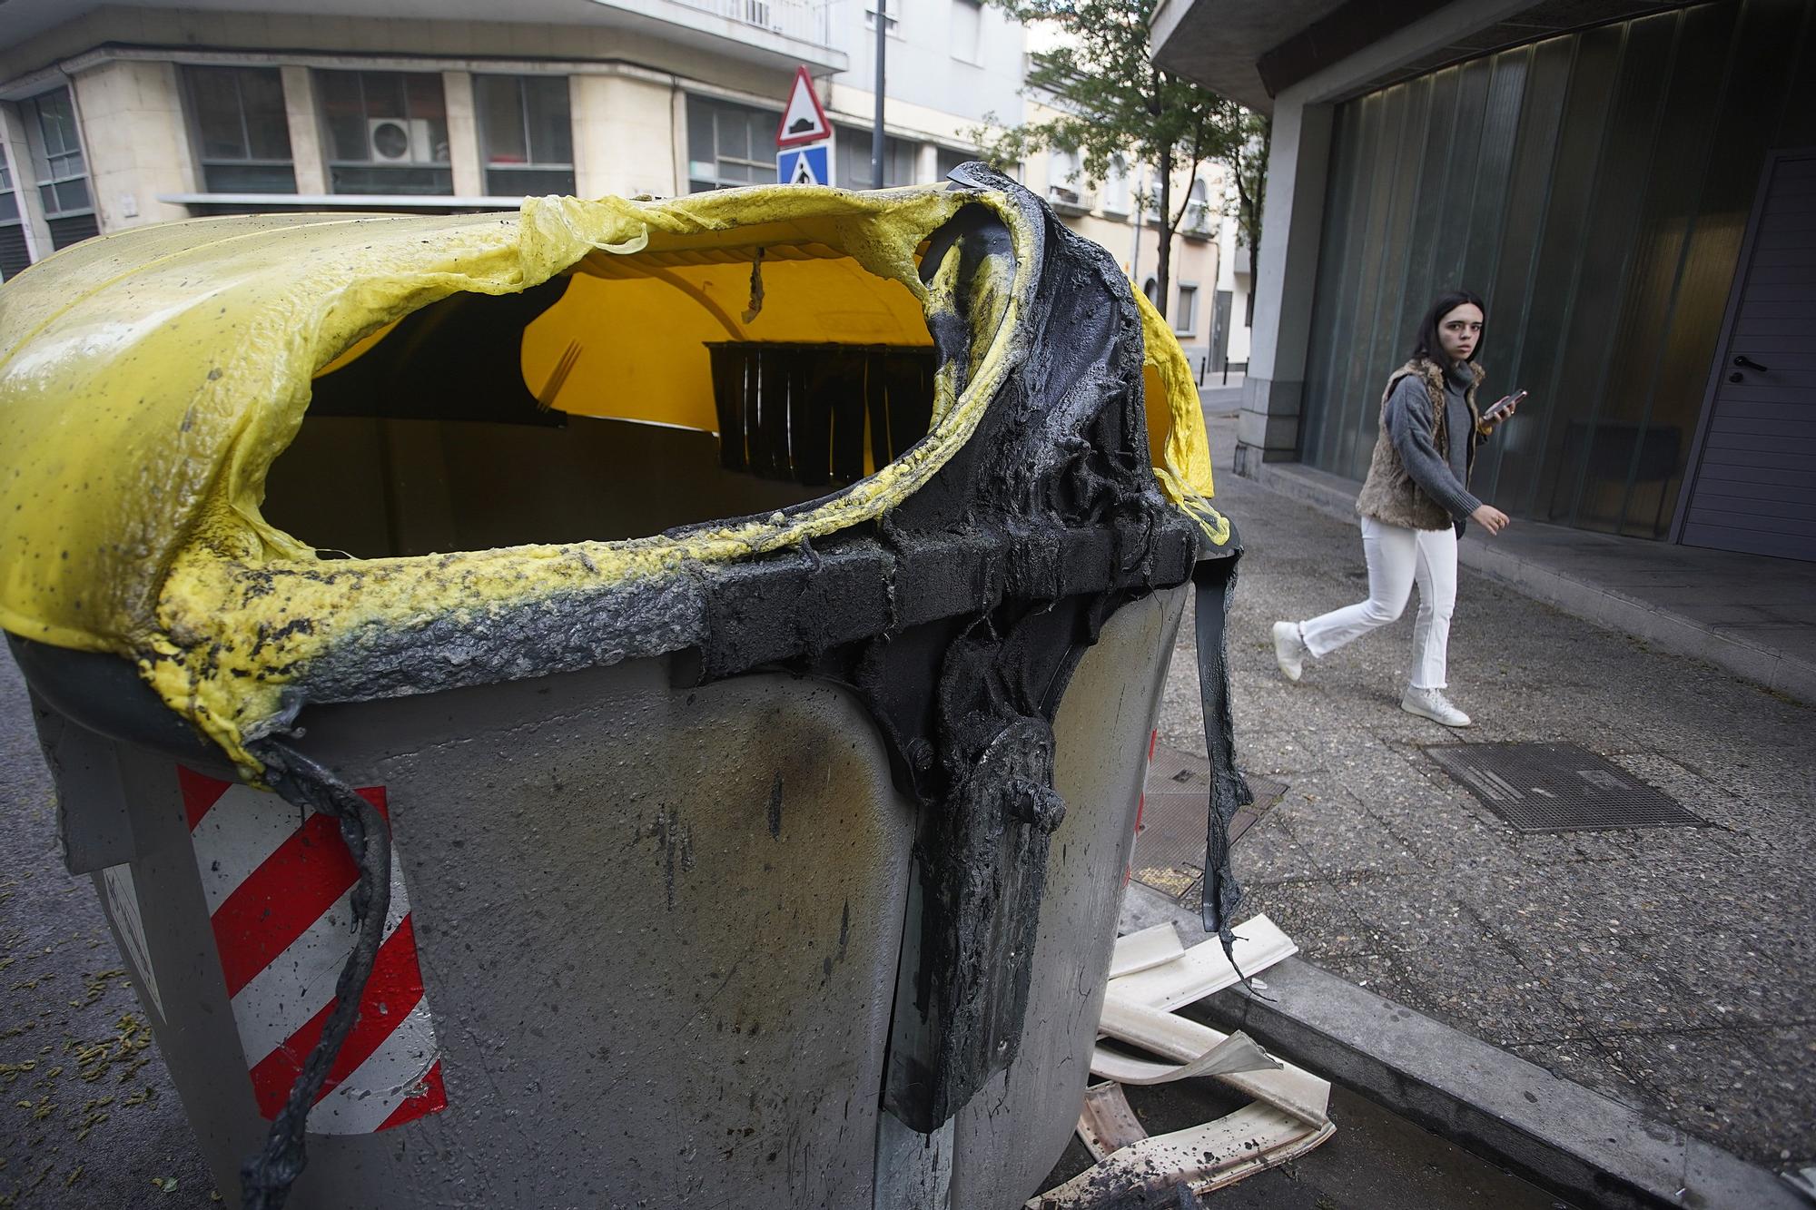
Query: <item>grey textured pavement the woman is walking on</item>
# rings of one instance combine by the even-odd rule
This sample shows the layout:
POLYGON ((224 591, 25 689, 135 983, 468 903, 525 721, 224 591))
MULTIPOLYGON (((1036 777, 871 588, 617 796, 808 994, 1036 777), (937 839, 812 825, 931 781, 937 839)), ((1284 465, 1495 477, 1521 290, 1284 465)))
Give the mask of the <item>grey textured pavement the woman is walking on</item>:
MULTIPOLYGON (((1357 985, 1738 1155, 1816 1155, 1816 710, 1467 569, 1451 694, 1475 729, 1398 710, 1411 609, 1288 683, 1269 623, 1366 592, 1357 529, 1229 471, 1231 422, 1211 441, 1246 545, 1239 759, 1288 783, 1235 850, 1246 912, 1357 985), (1584 745, 1712 827, 1516 832, 1426 750, 1460 741, 1584 745)), ((1160 734, 1202 754, 1189 627, 1180 647, 1160 734)))

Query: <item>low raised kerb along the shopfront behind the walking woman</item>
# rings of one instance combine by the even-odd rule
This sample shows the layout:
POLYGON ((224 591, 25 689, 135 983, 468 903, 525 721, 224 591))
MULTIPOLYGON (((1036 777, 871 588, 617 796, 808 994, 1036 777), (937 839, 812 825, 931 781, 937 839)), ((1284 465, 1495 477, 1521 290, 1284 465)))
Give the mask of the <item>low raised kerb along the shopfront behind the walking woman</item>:
MULTIPOLYGON (((1355 521, 1355 494, 1358 485, 1327 471, 1317 471, 1297 461, 1262 463, 1257 480, 1262 487, 1311 505, 1318 512, 1342 521, 1355 521)), ((1596 625, 1645 640, 1674 656, 1705 660, 1734 676, 1787 694, 1798 701, 1816 701, 1816 665, 1783 652, 1754 647, 1718 630, 1711 630, 1682 614, 1656 609, 1620 589, 1604 587, 1558 572, 1544 563, 1522 558, 1484 541, 1462 541, 1456 560, 1496 583, 1554 605, 1567 614, 1596 625)))

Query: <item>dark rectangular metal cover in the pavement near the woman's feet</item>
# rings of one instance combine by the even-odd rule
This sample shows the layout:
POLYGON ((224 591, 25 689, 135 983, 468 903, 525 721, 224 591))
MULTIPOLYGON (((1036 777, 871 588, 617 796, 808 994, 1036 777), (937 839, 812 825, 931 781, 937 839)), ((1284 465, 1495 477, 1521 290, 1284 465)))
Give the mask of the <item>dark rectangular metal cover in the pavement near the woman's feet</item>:
POLYGON ((1709 827, 1574 743, 1462 743, 1426 752, 1522 832, 1709 827))

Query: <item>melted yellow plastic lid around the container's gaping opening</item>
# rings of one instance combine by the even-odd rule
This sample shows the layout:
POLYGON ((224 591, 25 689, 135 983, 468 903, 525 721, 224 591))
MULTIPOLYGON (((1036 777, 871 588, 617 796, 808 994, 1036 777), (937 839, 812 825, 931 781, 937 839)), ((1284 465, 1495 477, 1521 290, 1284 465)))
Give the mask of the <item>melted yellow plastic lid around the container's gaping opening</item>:
MULTIPOLYGON (((58 253, 0 289, 0 627, 136 660, 165 703, 256 772, 249 734, 340 640, 501 607, 556 609, 572 589, 659 576, 683 560, 735 560, 872 520, 944 465, 1001 387, 1024 296, 1008 274, 1021 269, 993 262, 972 285, 970 380, 957 394, 953 374, 941 374, 930 440, 795 516, 681 538, 320 560, 269 525, 260 501, 265 472, 301 423, 311 380, 456 291, 523 291, 576 265, 612 276, 616 258, 637 253, 663 263, 716 249, 706 260, 725 262, 728 249, 812 247, 879 280, 863 287, 877 302, 872 311, 901 318, 906 296, 924 314, 950 314, 957 256, 930 285, 915 258, 972 200, 999 211, 1017 263, 1031 265, 1037 233, 1019 211, 995 194, 944 187, 532 198, 518 214, 479 216, 212 218, 58 253)), ((790 273, 777 267, 785 294, 790 273)), ((1150 420, 1166 432, 1157 476, 1213 540, 1226 540, 1228 525, 1219 538, 1222 518, 1204 500, 1209 452, 1189 369, 1164 322, 1139 302, 1150 420)), ((824 311, 832 338, 843 331, 839 309, 824 311)), ((527 336, 527 382, 559 358, 559 325, 527 336)), ((792 338, 812 336, 801 329, 792 338)))

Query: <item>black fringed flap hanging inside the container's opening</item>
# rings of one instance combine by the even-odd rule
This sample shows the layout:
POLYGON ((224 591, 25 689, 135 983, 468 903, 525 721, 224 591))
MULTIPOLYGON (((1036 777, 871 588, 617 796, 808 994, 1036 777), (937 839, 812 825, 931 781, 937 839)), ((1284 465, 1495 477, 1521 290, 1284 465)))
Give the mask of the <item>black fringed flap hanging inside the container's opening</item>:
POLYGON ((933 349, 708 342, 719 465, 844 487, 901 458, 933 423, 933 349))

